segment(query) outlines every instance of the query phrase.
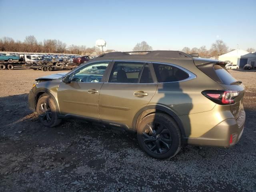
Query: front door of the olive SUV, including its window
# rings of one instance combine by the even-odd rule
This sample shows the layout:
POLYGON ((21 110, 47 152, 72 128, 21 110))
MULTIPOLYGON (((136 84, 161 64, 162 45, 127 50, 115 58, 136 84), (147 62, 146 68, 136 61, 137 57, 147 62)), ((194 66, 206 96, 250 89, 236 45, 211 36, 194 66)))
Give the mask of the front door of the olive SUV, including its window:
POLYGON ((61 114, 99 118, 99 94, 109 61, 94 62, 76 70, 71 82, 60 83, 58 102, 61 114))

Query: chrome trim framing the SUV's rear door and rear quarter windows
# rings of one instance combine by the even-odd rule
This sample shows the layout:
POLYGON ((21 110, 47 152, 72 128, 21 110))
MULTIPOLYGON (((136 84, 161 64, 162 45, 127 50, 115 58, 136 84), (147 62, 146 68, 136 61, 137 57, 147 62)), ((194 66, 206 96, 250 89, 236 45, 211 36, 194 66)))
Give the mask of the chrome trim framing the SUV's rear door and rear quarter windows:
MULTIPOLYGON (((188 78, 184 79, 184 80, 180 80, 180 81, 173 81, 173 82, 157 82, 157 83, 113 83, 113 82, 104 82, 104 83, 112 83, 112 84, 158 84, 158 83, 176 83, 176 82, 184 82, 184 81, 189 81, 192 79, 196 78, 196 75, 194 73, 192 73, 191 71, 176 65, 176 64, 172 64, 172 63, 166 63, 166 62, 155 62, 155 61, 145 61, 145 60, 112 60, 114 62, 144 62, 144 63, 156 63, 156 64, 164 64, 164 65, 170 65, 170 66, 174 66, 176 68, 179 68, 180 70, 183 70, 184 72, 186 72, 186 74, 188 74, 188 78)), ((156 73, 154 71, 154 73, 156 73)), ((108 77, 109 80, 109 77, 108 77)))

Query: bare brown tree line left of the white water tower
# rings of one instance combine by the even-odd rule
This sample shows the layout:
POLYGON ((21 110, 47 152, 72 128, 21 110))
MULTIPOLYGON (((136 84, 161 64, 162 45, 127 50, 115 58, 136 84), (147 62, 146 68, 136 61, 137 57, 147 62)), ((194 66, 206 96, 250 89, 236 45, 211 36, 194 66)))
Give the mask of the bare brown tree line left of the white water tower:
POLYGON ((67 53, 67 54, 92 54, 95 51, 95 47, 86 47, 84 45, 70 45, 56 40, 45 39, 43 42, 38 42, 35 36, 26 36, 24 41, 14 41, 13 38, 3 37, 0 38, 0 51, 8 52, 36 52, 36 53, 67 53))

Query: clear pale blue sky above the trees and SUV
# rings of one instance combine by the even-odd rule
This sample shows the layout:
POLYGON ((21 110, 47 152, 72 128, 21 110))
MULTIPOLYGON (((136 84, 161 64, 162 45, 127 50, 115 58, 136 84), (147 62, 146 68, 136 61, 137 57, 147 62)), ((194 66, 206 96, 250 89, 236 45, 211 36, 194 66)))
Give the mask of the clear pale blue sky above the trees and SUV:
POLYGON ((131 51, 146 41, 153 50, 181 50, 223 40, 229 49, 256 48, 256 0, 0 0, 0 38, 58 39, 131 51))

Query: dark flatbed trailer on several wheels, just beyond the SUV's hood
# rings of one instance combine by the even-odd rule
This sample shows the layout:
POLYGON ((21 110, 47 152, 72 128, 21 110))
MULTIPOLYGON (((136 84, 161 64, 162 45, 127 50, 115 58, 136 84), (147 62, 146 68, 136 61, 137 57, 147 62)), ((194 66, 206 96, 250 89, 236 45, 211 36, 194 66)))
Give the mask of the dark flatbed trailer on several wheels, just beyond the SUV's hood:
POLYGON ((70 62, 48 62, 48 61, 39 61, 35 64, 32 64, 29 68, 33 70, 42 70, 42 71, 52 71, 52 70, 72 70, 79 66, 78 64, 70 62))

